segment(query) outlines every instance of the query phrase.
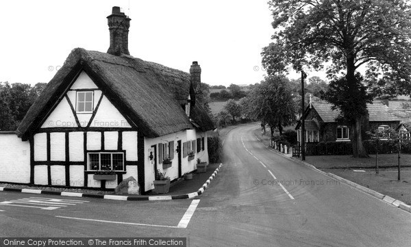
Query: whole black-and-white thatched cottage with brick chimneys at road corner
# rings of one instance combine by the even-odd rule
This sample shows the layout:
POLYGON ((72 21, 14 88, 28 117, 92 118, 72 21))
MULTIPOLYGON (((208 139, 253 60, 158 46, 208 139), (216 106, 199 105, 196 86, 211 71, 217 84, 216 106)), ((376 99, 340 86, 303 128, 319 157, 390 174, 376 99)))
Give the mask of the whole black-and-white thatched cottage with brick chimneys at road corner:
POLYGON ((74 49, 14 133, 0 135, 0 181, 114 188, 133 176, 142 193, 155 170, 171 180, 208 162, 214 128, 196 93, 201 68, 184 73, 129 55, 130 18, 107 17, 107 53, 74 49), (96 180, 97 171, 116 174, 96 180))

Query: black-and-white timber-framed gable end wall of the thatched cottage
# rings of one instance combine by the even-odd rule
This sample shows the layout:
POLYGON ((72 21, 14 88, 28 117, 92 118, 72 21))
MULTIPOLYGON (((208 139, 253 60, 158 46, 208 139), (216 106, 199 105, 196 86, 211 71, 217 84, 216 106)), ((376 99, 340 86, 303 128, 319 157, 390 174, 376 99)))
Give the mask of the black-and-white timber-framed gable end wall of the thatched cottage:
MULTIPOLYGON (((137 179, 138 131, 82 70, 32 138, 32 183, 113 189, 123 179, 137 179), (81 95, 82 94, 82 95, 81 95), (87 94, 87 96, 85 96, 87 94), (90 153, 122 157, 116 179, 93 179, 90 153)), ((107 161, 105 161, 107 162, 107 161)))

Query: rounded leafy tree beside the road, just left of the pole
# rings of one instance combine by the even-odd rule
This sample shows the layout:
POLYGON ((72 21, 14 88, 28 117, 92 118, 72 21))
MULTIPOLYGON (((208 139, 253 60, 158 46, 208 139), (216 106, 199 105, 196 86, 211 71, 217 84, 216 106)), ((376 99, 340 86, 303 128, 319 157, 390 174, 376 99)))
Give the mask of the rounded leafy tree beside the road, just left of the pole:
POLYGON ((271 135, 275 128, 278 128, 281 135, 283 127, 295 122, 296 107, 292 100, 290 82, 286 77, 267 77, 249 92, 247 99, 246 115, 269 125, 271 135))

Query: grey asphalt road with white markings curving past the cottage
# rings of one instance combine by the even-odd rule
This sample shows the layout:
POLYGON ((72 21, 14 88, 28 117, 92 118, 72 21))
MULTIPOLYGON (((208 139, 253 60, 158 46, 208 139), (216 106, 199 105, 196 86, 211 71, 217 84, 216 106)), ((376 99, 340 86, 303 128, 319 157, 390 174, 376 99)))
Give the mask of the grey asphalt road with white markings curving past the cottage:
POLYGON ((278 155, 256 139, 256 128, 225 135, 223 168, 195 201, 0 192, 0 203, 82 200, 50 210, 0 204, 0 236, 187 237, 189 246, 411 245, 410 213, 278 155), (197 209, 181 227, 194 202, 197 209))

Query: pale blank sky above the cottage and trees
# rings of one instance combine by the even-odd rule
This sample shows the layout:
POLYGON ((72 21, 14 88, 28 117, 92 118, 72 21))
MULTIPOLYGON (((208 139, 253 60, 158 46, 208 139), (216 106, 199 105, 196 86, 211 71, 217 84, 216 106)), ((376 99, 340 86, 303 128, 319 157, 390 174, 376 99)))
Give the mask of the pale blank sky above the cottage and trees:
POLYGON ((113 6, 132 19, 134 57, 185 72, 198 61, 210 85, 249 85, 266 75, 260 53, 273 34, 266 0, 16 0, 0 1, 0 81, 49 82, 72 49, 107 52, 113 6))

